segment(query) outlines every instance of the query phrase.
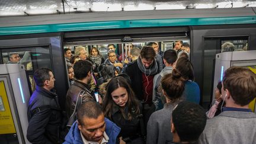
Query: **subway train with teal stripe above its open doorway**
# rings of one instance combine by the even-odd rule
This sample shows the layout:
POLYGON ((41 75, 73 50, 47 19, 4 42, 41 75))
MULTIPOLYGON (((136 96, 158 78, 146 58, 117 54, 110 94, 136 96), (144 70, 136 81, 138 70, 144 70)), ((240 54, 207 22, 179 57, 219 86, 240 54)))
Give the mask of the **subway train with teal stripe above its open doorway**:
MULTIPOLYGON (((103 56, 107 45, 117 53, 132 43, 143 47, 157 41, 162 51, 172 49, 177 40, 190 44, 190 60, 201 91, 200 104, 207 108, 216 87, 216 54, 222 44, 231 42, 235 50, 256 50, 256 8, 178 9, 155 11, 87 12, 84 14, 41 15, 0 18, 0 64, 8 55, 25 52, 24 64, 31 92, 31 77, 37 68, 47 67, 55 74, 60 106, 65 106, 69 88, 63 49, 76 46, 87 51, 97 47, 103 56)), ((256 59, 256 55, 255 55, 256 59)))

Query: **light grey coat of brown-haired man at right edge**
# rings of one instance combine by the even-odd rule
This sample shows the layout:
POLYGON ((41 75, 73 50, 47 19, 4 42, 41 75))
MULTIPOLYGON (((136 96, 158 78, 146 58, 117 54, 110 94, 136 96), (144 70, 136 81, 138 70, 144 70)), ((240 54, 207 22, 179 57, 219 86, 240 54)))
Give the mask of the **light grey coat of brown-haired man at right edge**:
POLYGON ((199 143, 256 143, 256 114, 244 111, 223 111, 207 120, 199 143))

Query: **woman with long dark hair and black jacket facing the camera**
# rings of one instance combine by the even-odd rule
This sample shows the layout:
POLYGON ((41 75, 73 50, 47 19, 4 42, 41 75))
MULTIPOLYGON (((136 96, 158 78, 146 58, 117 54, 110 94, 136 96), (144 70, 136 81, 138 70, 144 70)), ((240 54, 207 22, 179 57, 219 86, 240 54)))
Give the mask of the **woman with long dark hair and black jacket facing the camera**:
POLYGON ((105 117, 121 128, 120 140, 126 143, 144 143, 142 132, 142 105, 121 76, 112 78, 108 82, 107 92, 103 100, 105 117))

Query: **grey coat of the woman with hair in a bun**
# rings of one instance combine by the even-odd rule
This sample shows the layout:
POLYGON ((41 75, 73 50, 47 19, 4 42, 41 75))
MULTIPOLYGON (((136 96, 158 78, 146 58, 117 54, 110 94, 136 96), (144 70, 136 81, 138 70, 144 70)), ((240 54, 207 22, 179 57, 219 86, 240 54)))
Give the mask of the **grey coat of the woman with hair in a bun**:
POLYGON ((152 113, 147 126, 147 144, 162 144, 166 140, 172 141, 171 115, 177 103, 167 103, 162 110, 152 113))

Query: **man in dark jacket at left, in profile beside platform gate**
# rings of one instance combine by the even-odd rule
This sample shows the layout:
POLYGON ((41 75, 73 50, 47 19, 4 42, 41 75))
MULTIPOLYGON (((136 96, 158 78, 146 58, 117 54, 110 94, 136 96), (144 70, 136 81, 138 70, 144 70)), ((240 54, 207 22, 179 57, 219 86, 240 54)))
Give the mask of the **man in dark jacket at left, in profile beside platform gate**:
POLYGON ((55 83, 52 70, 37 69, 34 80, 37 86, 28 104, 27 139, 31 143, 62 143, 62 110, 52 91, 55 83))

